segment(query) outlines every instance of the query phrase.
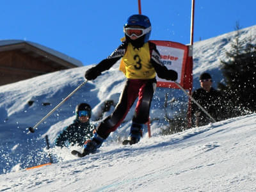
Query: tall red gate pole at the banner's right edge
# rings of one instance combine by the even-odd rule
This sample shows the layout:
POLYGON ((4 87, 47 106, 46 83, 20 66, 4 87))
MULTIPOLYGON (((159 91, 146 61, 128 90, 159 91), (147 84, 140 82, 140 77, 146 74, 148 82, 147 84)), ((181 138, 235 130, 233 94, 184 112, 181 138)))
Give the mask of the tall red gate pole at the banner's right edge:
MULTIPOLYGON (((191 0, 191 26, 190 26, 190 46, 189 46, 189 67, 191 67, 191 79, 189 79, 189 95, 192 95, 193 88, 193 43, 194 43, 194 15, 195 0, 191 0)), ((191 120, 191 99, 188 100, 188 127, 192 125, 191 120)))

